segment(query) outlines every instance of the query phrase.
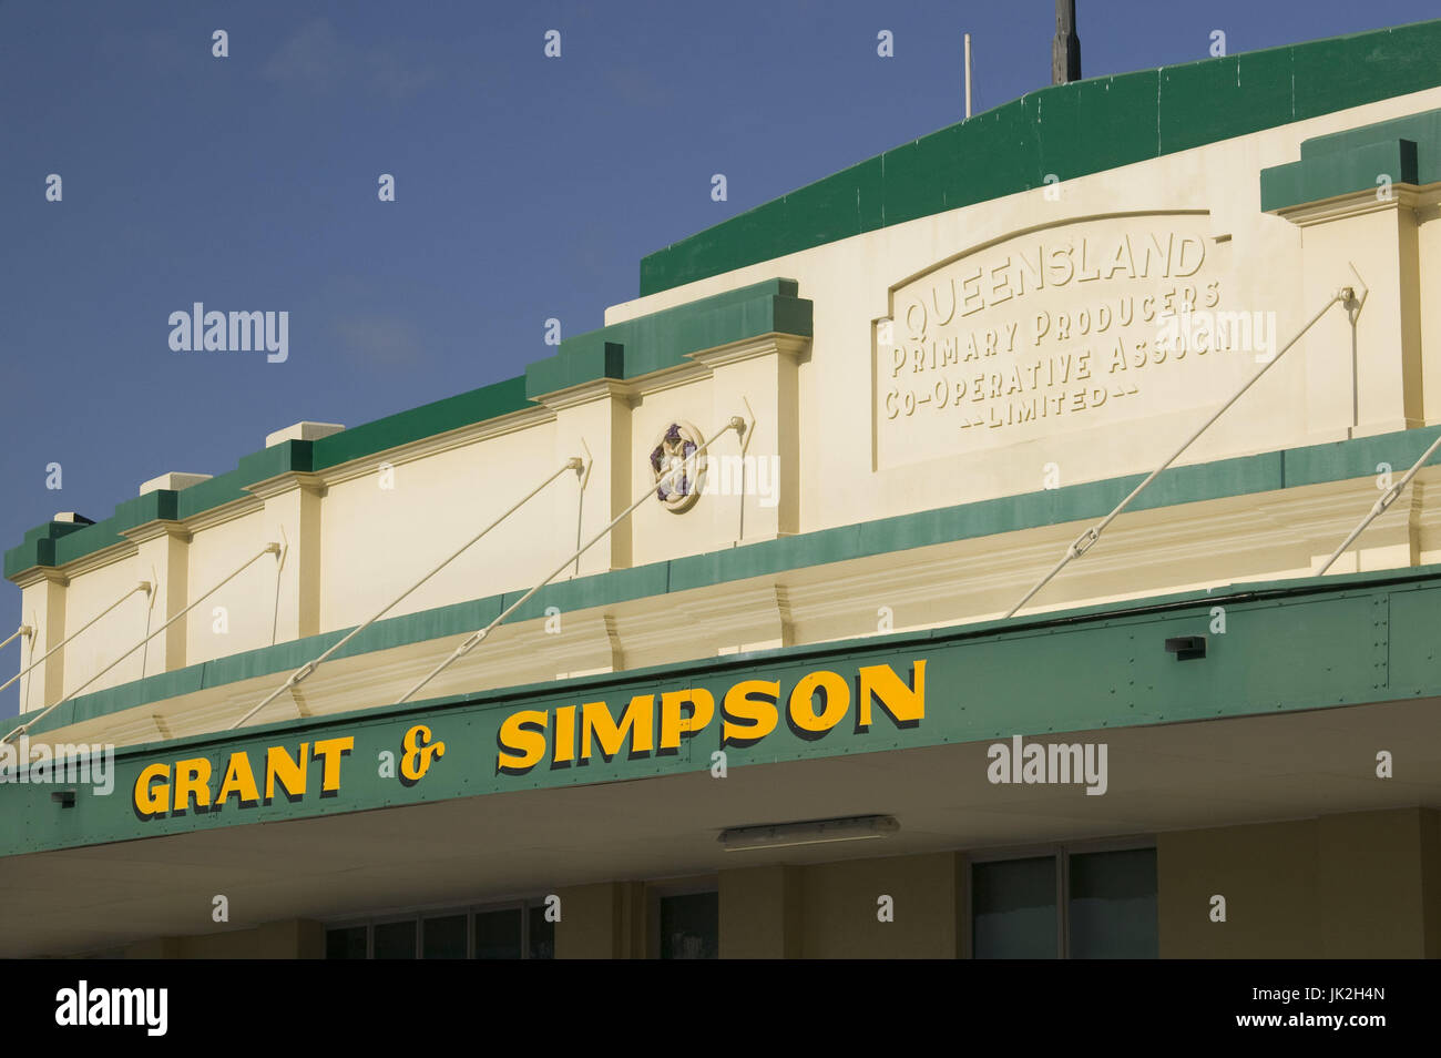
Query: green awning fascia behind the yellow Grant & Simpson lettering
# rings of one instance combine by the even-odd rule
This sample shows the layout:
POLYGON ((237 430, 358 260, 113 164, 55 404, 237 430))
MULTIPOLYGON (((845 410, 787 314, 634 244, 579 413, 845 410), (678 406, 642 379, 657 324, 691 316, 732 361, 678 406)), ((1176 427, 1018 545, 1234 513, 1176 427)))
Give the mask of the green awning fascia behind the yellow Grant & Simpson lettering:
POLYGON ((850 682, 862 666, 889 664, 914 679, 906 673, 924 660, 925 716, 898 725, 876 709, 870 729, 863 731, 852 722, 852 712, 818 738, 801 738, 782 722, 752 745, 726 745, 728 767, 1435 696, 1441 695, 1441 667, 1434 660, 1438 621, 1441 568, 1432 566, 1405 575, 1353 574, 1186 592, 1091 613, 791 647, 293 719, 238 735, 212 732, 117 751, 114 791, 102 797, 73 784, 76 801, 68 809, 52 803, 50 784, 0 784, 0 856, 709 770, 710 752, 720 748, 719 716, 673 752, 617 754, 585 765, 548 755, 520 775, 497 770, 497 732, 520 708, 553 711, 604 701, 618 712, 635 695, 683 688, 709 690, 719 703, 739 679, 778 682, 784 702, 797 680, 816 669, 850 682), (1212 607, 1221 601, 1226 633, 1210 634, 1212 607), (1360 627, 1368 634, 1357 636, 1360 627), (1187 634, 1208 636, 1206 659, 1179 663, 1163 650, 1166 639, 1187 634), (403 734, 416 724, 445 742, 444 757, 414 786, 380 778, 379 754, 399 755, 403 734), (277 797, 252 807, 231 801, 219 810, 150 820, 133 809, 131 791, 147 764, 203 757, 215 790, 235 751, 255 763, 271 745, 293 748, 346 737, 354 747, 340 764, 340 788, 330 797, 318 796, 320 768, 313 763, 308 790, 294 801, 277 797))

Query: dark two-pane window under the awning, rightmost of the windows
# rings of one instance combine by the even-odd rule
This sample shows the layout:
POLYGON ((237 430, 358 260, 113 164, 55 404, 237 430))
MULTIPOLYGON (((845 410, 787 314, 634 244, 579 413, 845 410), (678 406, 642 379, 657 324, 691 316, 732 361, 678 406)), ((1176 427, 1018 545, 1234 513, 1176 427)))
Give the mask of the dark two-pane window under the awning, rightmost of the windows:
POLYGON ((1156 959, 1156 849, 971 863, 974 959, 1156 959))

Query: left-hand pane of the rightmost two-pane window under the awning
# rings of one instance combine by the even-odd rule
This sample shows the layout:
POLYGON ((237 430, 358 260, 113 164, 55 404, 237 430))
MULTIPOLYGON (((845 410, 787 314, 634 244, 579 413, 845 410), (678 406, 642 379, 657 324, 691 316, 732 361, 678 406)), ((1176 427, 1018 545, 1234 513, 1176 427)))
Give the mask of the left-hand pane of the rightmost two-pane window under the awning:
POLYGON ((1056 959, 1056 859, 1003 859, 971 866, 976 959, 1056 959))

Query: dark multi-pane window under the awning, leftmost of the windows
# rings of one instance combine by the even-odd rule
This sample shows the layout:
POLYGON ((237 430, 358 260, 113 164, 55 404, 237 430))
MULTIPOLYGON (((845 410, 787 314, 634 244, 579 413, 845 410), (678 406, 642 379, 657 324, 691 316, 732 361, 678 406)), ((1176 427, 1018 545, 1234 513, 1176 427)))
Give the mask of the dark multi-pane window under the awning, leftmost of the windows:
POLYGON ((326 930, 326 959, 555 959, 543 901, 424 911, 326 930))

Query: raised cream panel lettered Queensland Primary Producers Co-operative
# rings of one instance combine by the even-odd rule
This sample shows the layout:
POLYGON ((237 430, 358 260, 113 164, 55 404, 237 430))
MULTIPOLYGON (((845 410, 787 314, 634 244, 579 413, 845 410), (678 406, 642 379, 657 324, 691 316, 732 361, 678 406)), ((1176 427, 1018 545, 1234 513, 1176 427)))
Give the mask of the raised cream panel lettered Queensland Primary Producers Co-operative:
POLYGON ((875 336, 879 463, 1206 399, 1228 375, 1206 362, 1226 353, 1203 334, 1160 336, 1167 314, 1221 307, 1213 249, 1202 216, 1082 222, 1007 239, 898 288, 895 316, 875 336))

